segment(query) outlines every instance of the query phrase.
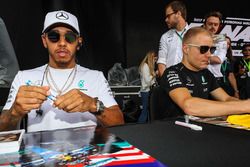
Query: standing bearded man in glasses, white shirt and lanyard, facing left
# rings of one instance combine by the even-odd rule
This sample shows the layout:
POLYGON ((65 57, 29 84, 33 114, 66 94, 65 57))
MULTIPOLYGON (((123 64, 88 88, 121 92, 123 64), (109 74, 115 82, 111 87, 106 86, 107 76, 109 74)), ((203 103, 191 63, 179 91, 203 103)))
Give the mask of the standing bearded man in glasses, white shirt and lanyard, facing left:
POLYGON ((165 14, 165 22, 170 30, 164 33, 160 39, 157 60, 160 76, 162 76, 166 68, 181 62, 182 38, 188 30, 186 6, 182 1, 170 2, 166 6, 165 14))

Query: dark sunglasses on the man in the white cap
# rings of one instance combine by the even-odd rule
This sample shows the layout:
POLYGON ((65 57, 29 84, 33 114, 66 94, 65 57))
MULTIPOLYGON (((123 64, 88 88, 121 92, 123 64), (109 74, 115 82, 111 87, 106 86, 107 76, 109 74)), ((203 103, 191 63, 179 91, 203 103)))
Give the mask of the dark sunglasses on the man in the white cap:
MULTIPOLYGON (((60 33, 57 31, 49 31, 47 32, 47 36, 48 39, 50 40, 50 42, 56 43, 60 40, 60 33)), ((72 31, 67 32, 66 34, 64 34, 64 39, 68 42, 68 43, 74 43, 77 40, 78 35, 72 31)))

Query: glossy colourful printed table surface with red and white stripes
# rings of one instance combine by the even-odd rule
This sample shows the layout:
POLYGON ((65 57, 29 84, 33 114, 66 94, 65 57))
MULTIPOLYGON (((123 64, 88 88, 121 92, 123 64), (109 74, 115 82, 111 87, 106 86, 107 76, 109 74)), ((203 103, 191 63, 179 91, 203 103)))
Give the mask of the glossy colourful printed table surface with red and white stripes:
POLYGON ((18 152, 0 154, 0 166, 166 167, 96 126, 26 133, 18 152))

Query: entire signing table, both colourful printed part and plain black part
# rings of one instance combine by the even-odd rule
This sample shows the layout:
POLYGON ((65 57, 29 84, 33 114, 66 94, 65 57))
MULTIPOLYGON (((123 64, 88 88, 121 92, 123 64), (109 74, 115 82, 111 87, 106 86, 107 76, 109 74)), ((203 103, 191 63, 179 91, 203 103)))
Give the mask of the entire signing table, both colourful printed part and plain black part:
POLYGON ((175 121, 27 133, 19 152, 0 155, 0 166, 250 165, 250 131, 191 122, 202 126, 195 131, 175 121))

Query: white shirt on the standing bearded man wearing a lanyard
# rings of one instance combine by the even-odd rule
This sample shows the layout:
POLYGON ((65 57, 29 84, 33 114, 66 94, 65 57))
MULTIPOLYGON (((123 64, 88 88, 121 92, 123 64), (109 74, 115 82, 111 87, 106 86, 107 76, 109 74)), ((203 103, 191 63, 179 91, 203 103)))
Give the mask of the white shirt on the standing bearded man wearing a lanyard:
POLYGON ((188 24, 186 24, 181 32, 170 29, 161 36, 157 64, 165 64, 168 68, 181 62, 183 56, 182 38, 188 28, 188 24))

